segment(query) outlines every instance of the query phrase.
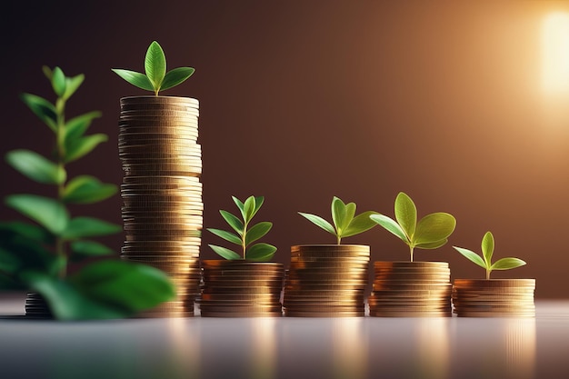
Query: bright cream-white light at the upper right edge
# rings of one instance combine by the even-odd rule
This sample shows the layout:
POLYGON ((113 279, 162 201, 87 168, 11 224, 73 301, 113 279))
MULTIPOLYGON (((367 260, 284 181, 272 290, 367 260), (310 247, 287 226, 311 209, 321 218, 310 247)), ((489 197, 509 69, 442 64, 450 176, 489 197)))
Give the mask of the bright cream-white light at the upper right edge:
POLYGON ((555 12, 544 22, 543 85, 547 92, 569 91, 569 14, 555 12))

